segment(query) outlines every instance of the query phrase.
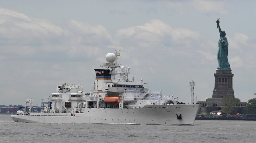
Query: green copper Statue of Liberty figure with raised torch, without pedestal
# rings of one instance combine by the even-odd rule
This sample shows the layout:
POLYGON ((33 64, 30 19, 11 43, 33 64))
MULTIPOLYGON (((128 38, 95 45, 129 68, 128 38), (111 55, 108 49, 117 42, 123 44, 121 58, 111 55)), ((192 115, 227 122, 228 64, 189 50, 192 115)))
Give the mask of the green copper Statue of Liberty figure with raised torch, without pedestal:
POLYGON ((217 59, 219 62, 219 67, 217 68, 218 70, 231 70, 229 61, 228 61, 228 47, 229 47, 229 42, 226 36, 225 31, 221 31, 221 27, 219 26, 219 19, 216 21, 217 23, 217 28, 219 28, 219 45, 218 45, 218 55, 217 59))

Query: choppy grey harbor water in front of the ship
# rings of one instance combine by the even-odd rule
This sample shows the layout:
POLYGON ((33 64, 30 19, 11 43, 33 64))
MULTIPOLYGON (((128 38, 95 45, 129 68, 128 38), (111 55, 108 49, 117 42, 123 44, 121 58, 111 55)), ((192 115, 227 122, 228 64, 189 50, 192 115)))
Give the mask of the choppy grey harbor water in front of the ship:
POLYGON ((256 121, 195 120, 193 126, 37 124, 0 114, 0 143, 255 143, 256 121))

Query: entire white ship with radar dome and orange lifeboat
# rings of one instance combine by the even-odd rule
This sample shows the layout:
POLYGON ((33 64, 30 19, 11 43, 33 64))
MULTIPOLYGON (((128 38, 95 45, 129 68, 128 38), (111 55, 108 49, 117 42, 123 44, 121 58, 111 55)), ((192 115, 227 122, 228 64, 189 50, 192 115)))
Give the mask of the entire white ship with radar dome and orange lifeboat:
POLYGON ((96 79, 90 93, 83 93, 82 85, 65 83, 51 94, 49 107, 31 112, 32 101, 27 100, 12 119, 28 123, 193 125, 201 104, 180 103, 178 97, 149 90, 143 79, 130 80, 130 68, 117 63, 117 56, 118 50, 108 53, 107 63, 94 69, 96 79))

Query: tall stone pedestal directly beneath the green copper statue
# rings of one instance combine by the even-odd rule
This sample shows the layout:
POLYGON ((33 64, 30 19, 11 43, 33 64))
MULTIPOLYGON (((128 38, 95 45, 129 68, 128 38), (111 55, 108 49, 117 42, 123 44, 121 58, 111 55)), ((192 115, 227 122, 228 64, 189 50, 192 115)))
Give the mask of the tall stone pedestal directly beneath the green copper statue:
POLYGON ((213 98, 235 98, 233 90, 233 76, 234 74, 231 70, 216 70, 216 73, 214 73, 215 85, 213 89, 213 98))

